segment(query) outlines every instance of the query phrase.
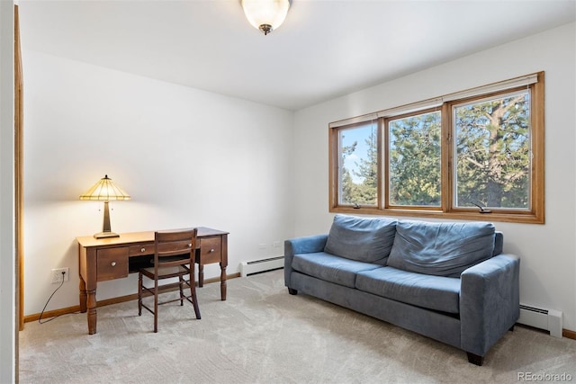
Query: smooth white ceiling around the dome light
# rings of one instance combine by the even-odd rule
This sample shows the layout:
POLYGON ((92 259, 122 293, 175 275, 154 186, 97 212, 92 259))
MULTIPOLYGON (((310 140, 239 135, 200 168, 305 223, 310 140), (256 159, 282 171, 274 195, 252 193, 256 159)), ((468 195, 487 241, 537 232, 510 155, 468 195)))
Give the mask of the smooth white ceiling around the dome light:
POLYGON ((576 20, 576 0, 293 0, 265 36, 238 0, 18 3, 23 49, 289 110, 576 20))

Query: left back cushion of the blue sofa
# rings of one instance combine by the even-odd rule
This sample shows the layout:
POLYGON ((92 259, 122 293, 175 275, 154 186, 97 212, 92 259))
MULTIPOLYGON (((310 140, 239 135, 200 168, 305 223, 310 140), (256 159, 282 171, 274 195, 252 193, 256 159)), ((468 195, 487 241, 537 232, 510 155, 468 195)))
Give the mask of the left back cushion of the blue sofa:
POLYGON ((359 262, 386 265, 397 222, 395 219, 336 215, 324 252, 359 262))

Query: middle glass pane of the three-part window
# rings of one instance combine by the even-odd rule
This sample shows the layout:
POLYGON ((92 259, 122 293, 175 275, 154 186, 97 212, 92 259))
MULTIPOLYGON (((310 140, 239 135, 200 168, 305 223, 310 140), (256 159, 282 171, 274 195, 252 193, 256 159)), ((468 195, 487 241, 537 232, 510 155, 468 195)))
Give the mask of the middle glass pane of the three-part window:
POLYGON ((389 121, 390 205, 440 206, 440 119, 428 112, 389 121))

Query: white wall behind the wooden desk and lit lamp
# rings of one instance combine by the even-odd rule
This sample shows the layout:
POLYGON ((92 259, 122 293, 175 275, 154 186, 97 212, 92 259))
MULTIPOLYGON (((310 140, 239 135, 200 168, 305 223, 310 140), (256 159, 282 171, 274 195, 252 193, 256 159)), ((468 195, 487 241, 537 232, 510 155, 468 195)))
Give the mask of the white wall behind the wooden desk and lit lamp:
MULTIPOLYGON (((293 112, 26 50, 24 28, 25 315, 57 288, 52 268, 71 279, 47 310, 78 304, 75 237, 103 220, 102 202, 78 196, 104 174, 132 197, 110 202, 112 231, 229 231, 228 273, 283 254, 272 244, 293 233, 293 112)), ((136 292, 136 277, 99 283, 97 299, 136 292)))

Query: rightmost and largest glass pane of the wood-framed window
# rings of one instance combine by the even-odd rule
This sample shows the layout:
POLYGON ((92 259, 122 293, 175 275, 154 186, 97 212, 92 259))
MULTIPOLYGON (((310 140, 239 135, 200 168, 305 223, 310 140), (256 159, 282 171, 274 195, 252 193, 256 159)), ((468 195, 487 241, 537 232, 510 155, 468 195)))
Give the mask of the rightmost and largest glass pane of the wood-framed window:
POLYGON ((457 105, 455 206, 527 210, 529 91, 457 105))

